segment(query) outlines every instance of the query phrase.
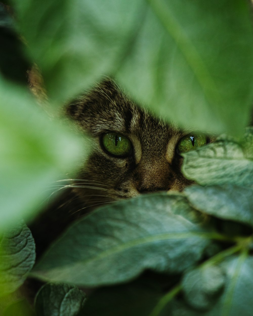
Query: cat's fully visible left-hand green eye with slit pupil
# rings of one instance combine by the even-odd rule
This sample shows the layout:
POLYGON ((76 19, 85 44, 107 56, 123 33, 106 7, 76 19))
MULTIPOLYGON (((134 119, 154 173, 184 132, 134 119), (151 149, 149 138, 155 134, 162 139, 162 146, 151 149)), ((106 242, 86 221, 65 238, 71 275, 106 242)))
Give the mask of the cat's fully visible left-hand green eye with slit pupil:
POLYGON ((126 156, 132 149, 132 144, 127 137, 114 132, 105 133, 102 136, 101 143, 109 154, 115 156, 126 156))

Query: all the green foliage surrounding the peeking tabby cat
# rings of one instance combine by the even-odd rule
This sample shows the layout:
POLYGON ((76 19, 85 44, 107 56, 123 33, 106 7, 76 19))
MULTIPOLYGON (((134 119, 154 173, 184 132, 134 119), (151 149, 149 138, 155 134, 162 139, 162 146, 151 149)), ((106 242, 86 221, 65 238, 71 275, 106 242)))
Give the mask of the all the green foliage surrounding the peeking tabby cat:
MULTIPOLYGON (((53 118, 55 106, 110 75, 168 120, 227 135, 183 154, 182 171, 196 182, 184 192, 109 204, 72 224, 30 273, 51 283, 27 315, 251 316, 252 128, 242 137, 253 100, 248 1, 10 4, 15 27, 0 3, 0 32, 10 34, 2 47, 19 66, 7 73, 0 61, 0 295, 17 290, 34 264, 20 218, 31 220, 52 192, 47 185, 89 153, 85 136, 53 118), (42 71, 48 113, 17 83, 27 60, 42 71), (86 301, 77 285, 98 288, 86 301)), ((13 299, 3 314, 26 305, 13 299)))

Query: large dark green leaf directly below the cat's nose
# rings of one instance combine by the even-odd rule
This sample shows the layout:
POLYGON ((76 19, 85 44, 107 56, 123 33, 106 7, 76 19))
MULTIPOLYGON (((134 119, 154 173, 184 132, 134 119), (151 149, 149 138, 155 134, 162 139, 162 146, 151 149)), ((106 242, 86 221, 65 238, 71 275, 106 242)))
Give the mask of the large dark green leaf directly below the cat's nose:
POLYGON ((144 195, 100 208, 72 225, 32 276, 96 286, 124 282, 144 269, 179 273, 210 243, 198 213, 179 195, 144 195))

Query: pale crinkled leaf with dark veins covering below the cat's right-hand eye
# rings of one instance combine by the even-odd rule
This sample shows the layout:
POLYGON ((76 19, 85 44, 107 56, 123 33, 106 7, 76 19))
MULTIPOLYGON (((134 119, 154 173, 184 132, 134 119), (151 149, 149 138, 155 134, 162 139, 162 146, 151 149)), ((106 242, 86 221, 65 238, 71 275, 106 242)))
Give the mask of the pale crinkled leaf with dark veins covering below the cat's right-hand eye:
POLYGON ((201 185, 253 185, 253 161, 238 143, 219 139, 182 154, 182 172, 201 185))

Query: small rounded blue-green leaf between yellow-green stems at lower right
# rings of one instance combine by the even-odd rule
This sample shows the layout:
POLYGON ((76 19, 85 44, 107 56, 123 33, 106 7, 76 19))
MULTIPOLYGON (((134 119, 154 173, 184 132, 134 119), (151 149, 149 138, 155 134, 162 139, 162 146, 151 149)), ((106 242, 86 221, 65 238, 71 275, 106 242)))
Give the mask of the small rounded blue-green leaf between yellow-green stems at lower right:
POLYGON ((200 310, 213 307, 224 284, 224 272, 218 266, 191 270, 182 279, 185 300, 190 306, 200 310))

